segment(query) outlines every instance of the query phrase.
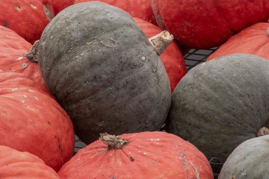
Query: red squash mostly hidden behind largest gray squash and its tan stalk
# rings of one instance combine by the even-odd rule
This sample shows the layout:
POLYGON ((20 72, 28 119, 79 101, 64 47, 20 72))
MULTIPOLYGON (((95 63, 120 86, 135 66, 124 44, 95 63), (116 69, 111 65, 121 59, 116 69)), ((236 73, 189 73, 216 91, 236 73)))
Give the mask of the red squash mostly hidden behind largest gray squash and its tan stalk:
MULTIPOLYGON (((136 23, 141 27, 148 38, 162 32, 162 29, 145 20, 139 18, 134 18, 134 20, 136 20, 136 23)), ((186 74, 186 64, 175 40, 172 41, 161 54, 161 59, 169 77, 172 92, 180 79, 186 74)))

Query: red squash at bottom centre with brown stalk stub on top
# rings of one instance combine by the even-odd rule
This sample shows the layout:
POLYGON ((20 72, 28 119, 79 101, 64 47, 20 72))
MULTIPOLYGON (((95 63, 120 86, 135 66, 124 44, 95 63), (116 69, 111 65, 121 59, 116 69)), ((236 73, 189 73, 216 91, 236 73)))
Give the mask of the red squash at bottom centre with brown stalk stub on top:
POLYGON ((101 140, 81 149, 59 171, 61 178, 213 178, 202 152, 170 133, 140 132, 101 140))

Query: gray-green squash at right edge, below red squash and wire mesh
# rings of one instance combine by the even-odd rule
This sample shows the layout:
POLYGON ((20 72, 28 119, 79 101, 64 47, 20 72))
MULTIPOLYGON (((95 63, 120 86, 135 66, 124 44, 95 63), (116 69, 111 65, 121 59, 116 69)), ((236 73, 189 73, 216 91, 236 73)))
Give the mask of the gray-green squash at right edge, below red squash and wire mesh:
POLYGON ((232 54, 197 65, 183 77, 172 94, 167 131, 208 158, 226 159, 268 122, 269 60, 232 54))

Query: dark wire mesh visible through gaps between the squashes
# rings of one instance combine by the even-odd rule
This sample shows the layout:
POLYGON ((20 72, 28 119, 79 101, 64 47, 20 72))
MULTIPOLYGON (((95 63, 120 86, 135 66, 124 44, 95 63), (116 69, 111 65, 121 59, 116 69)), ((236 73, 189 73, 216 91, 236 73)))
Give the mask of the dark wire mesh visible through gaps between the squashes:
MULTIPOLYGON (((190 49, 185 55, 185 63, 187 71, 194 68, 194 66, 205 62, 207 57, 214 53, 214 51, 217 49, 207 49, 207 50, 197 50, 197 49, 190 49)), ((74 154, 78 152, 79 149, 86 147, 86 144, 83 143, 78 137, 75 137, 75 148, 74 148, 74 154)), ((214 178, 217 179, 219 172, 221 170, 222 165, 224 164, 223 159, 217 159, 217 158, 208 158, 208 161, 210 165, 212 166, 212 169, 214 171, 214 178)))

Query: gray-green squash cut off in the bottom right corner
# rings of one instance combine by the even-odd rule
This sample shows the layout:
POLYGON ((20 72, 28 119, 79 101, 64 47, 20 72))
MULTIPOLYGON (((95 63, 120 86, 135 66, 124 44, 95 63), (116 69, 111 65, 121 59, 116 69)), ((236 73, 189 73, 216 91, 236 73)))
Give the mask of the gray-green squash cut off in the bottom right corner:
POLYGON ((224 163, 219 179, 267 179, 269 177, 269 135, 240 144, 224 163))

